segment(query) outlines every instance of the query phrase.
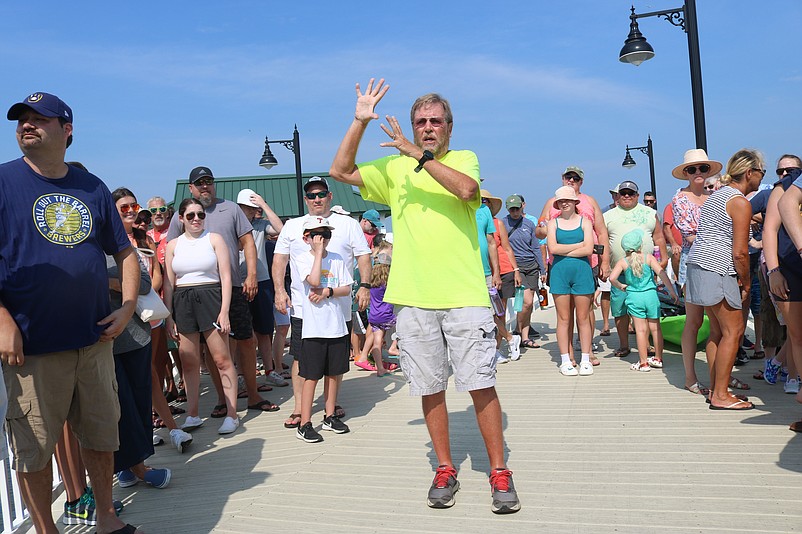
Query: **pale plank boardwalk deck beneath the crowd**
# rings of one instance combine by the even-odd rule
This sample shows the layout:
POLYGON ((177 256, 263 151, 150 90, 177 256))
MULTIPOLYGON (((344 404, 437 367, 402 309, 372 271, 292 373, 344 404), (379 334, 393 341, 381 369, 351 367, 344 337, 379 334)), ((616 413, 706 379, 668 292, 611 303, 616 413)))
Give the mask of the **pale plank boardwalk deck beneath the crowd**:
MULTIPOLYGON (((457 504, 431 510, 425 498, 436 461, 419 399, 409 397, 400 374, 379 379, 352 367, 340 396, 349 434, 324 432, 319 444, 297 440, 282 426, 290 388, 274 388, 265 395, 281 411, 240 412, 242 427, 229 437, 218 436, 220 420, 209 419, 183 455, 157 447, 149 463, 172 469, 170 487, 115 486, 122 519, 148 533, 192 534, 802 529, 802 435, 788 430, 802 406, 781 385, 751 378, 762 361, 735 372, 752 384, 755 410, 710 411, 682 389, 676 353, 666 353, 662 372, 632 372, 636 356, 614 357, 613 333, 597 338, 610 346, 603 345, 593 376, 563 377, 554 310, 536 312, 533 324, 549 332, 543 348, 498 373, 508 462, 522 502, 517 514, 490 512, 489 467, 467 394, 448 394, 457 504)), ((702 353, 697 370, 707 375, 702 353)), ((214 400, 204 394, 202 414, 214 400)), ((63 496, 55 517, 62 506, 63 496)))

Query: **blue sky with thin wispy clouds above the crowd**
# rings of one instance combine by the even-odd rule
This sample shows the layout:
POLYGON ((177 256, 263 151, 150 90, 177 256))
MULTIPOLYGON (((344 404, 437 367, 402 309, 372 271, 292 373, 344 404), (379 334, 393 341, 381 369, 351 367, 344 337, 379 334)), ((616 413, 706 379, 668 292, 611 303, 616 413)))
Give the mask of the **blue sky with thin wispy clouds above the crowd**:
MULTIPOLYGON (((636 2, 639 12, 681 0, 636 2)), ((454 110, 452 148, 479 156, 494 194, 525 195, 537 213, 567 165, 583 192, 608 200, 623 179, 648 188, 648 160, 621 167, 625 145, 654 141, 660 204, 670 171, 694 146, 686 35, 640 21, 655 49, 640 67, 618 61, 629 1, 572 2, 3 2, 4 110, 34 91, 75 114, 69 159, 140 201, 172 199, 196 165, 217 176, 267 174, 264 137, 301 133, 304 172, 326 172, 354 107, 354 84, 385 77, 378 109, 409 133, 415 97, 435 91, 454 110)), ((770 168, 802 153, 802 2, 698 0, 709 153, 741 147, 770 168)), ((19 157, 6 121, 0 160, 19 157)), ((359 160, 387 154, 371 124, 359 160)), ((294 172, 292 154, 273 146, 294 172)), ((268 199, 269 202, 269 199, 268 199)))

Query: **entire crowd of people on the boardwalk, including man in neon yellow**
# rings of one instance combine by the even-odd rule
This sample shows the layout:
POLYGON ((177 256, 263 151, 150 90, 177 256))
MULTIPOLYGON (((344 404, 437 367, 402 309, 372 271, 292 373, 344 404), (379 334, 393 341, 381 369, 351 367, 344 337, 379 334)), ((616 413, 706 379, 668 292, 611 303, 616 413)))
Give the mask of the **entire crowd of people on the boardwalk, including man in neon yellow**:
MULTIPOLYGON (((329 174, 388 205, 392 233, 375 210, 357 220, 333 206, 328 181, 317 176, 303 185, 308 214, 287 221, 250 189, 236 202, 219 198, 204 166, 190 172, 190 196, 175 212, 161 197, 140 206, 131 189, 110 192, 83 165, 65 162, 73 117, 61 99, 35 93, 9 109, 23 157, 0 166, 0 225, 15 236, 0 243, 0 357, 13 468, 38 532, 55 529, 54 454, 65 524, 139 532, 118 518, 113 476, 121 487, 169 485, 170 470, 146 461, 164 442, 160 427, 177 451, 192 444, 207 421, 203 374, 217 395, 209 417, 222 419, 221 435, 239 429, 238 398, 248 410, 275 412, 262 393, 290 385, 294 406, 283 426, 299 440, 323 441, 318 429, 349 432, 337 401, 349 360, 377 377, 400 370, 421 396, 438 460, 427 495, 433 508, 453 506, 459 490, 445 402, 453 375, 472 397, 487 448, 491 509, 516 512, 496 367, 541 348, 530 323, 535 303, 549 297, 562 376, 593 375, 601 363, 594 337, 611 335, 610 314, 615 356, 630 355, 634 334, 631 369, 661 369, 660 318, 682 307, 687 391, 710 409, 751 409, 734 391, 749 386, 732 370, 765 359, 756 378, 784 381, 802 402, 802 321, 787 320, 802 311, 799 157, 781 156, 778 181, 761 185, 766 164, 755 150, 736 152, 726 168, 688 150, 672 172, 687 183, 662 211, 654 192, 640 203, 629 180, 610 189, 602 208, 580 191, 583 169, 568 166, 534 217, 522 195, 502 201, 480 189, 476 155, 449 148, 452 112, 437 94, 413 104, 412 139, 395 117, 381 125, 382 146, 397 154, 357 164, 388 90, 384 80, 371 79, 364 92, 357 84, 354 119, 329 174), (507 215, 498 217, 502 205, 507 215), (439 239, 422 239, 433 227, 439 239), (437 269, 420 269, 420 258, 437 269), (165 310, 148 320, 137 301, 152 292, 165 310), (62 304, 42 306, 40 294, 62 304), (744 335, 750 311, 754 342, 744 335), (705 320, 709 387, 695 368, 705 320)), ((791 429, 802 431, 802 421, 791 429)))

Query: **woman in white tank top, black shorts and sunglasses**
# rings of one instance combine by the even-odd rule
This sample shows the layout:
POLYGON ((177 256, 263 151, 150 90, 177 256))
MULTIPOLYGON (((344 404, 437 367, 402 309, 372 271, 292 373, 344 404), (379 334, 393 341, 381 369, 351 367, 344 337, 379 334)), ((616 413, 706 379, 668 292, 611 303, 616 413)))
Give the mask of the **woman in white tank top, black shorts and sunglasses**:
POLYGON ((228 351, 231 330, 228 311, 231 302, 231 264, 223 238, 204 230, 203 205, 187 198, 178 208, 184 233, 167 244, 164 300, 172 312, 167 332, 179 341, 178 353, 184 366, 187 390, 187 419, 181 427, 193 430, 203 424, 198 417, 200 388, 200 335, 206 340, 220 371, 226 399, 226 418, 220 434, 234 432, 237 416, 237 372, 228 351))

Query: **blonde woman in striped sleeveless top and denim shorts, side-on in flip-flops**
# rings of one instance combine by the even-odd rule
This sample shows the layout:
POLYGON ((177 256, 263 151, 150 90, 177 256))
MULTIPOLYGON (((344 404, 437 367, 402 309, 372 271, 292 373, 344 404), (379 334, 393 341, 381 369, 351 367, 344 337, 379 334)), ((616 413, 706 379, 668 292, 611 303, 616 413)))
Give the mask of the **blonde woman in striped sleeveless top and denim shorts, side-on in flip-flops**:
POLYGON ((765 174, 763 156, 756 150, 742 149, 730 158, 727 173, 721 178, 722 187, 702 206, 688 256, 686 302, 703 306, 710 318, 706 354, 711 410, 754 408, 728 388, 748 389, 731 380, 744 333, 741 308, 751 285, 748 244, 752 206, 745 195, 758 189, 765 174))

